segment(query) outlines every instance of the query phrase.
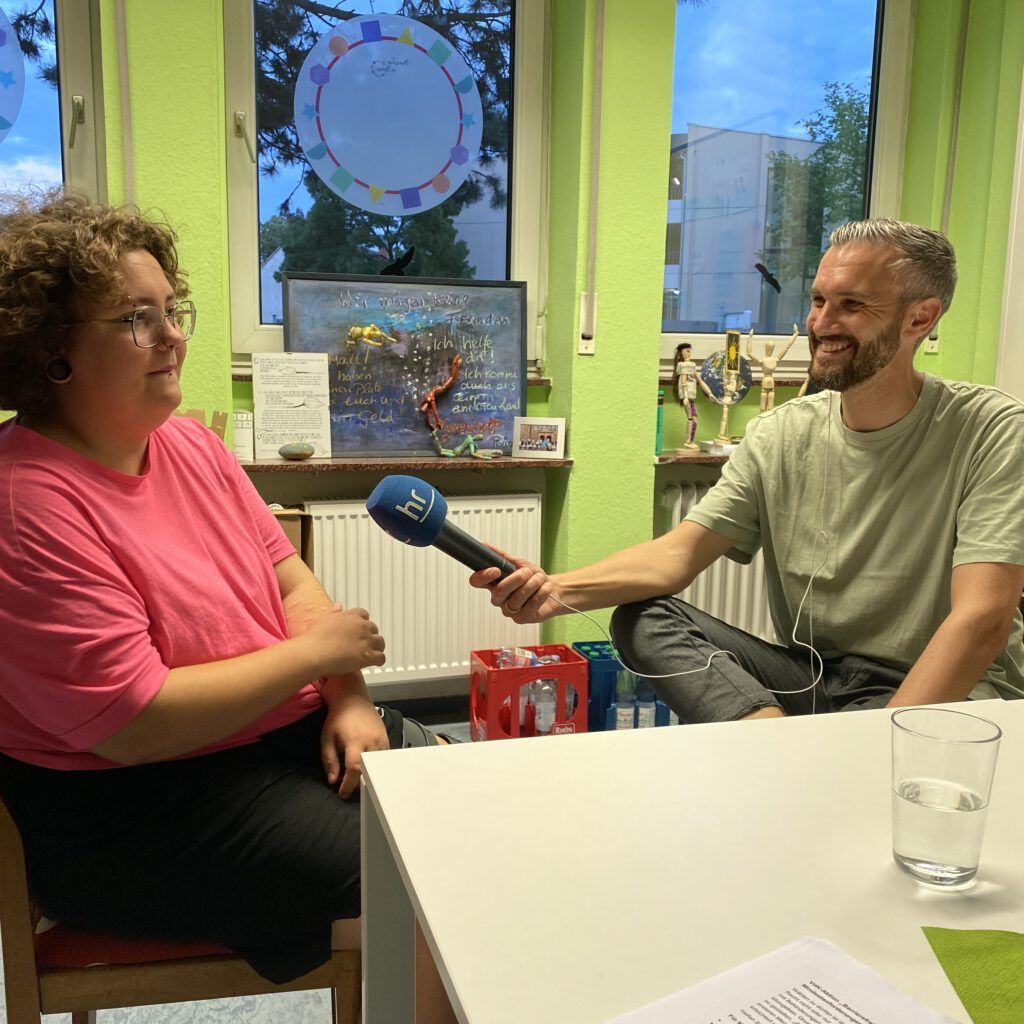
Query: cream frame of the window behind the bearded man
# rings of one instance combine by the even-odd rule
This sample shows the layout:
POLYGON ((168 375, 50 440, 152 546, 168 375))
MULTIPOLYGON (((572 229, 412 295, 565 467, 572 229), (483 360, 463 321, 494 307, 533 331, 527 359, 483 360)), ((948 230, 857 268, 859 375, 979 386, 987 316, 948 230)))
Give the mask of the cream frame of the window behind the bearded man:
MULTIPOLYGON (((885 0, 882 53, 879 59, 878 106, 871 150, 870 195, 868 214, 872 217, 898 217, 903 179, 903 151, 906 144, 906 121, 910 100, 910 62, 913 53, 914 0, 885 0)), ((804 325, 800 325, 804 330, 804 325)), ((771 339, 781 347, 790 335, 755 335, 755 340, 771 339)), ((693 346, 691 358, 700 362, 722 348, 721 334, 663 333, 660 375, 672 376, 676 346, 693 346)), ((745 343, 743 348, 745 355, 745 343)), ((803 378, 810 365, 807 336, 796 344, 775 368, 776 378, 803 378)), ((751 367, 754 379, 761 379, 757 365, 751 367)))

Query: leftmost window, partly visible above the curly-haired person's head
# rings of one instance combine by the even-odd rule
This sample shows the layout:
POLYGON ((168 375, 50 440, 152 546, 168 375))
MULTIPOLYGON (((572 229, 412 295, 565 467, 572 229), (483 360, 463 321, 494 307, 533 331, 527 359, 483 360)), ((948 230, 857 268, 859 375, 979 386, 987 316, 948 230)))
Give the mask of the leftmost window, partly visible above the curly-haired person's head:
POLYGON ((0 191, 104 190, 95 13, 83 2, 0 4, 0 191))

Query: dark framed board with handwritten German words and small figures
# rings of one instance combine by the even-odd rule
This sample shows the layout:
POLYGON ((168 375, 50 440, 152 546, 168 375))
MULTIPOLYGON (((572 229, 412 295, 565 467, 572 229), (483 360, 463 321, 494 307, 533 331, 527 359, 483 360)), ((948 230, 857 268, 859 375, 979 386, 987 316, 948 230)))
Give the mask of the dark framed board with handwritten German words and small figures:
POLYGON ((511 453, 526 404, 522 282, 282 281, 286 350, 328 354, 333 455, 436 455, 431 426, 444 449, 473 435, 511 453))

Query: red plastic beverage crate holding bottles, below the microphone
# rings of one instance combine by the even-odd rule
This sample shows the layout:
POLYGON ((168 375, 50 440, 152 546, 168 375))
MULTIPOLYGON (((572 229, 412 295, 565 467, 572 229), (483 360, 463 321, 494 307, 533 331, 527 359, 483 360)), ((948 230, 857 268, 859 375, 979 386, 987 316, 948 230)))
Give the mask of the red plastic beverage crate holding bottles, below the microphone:
POLYGON ((519 701, 525 699, 522 687, 537 679, 553 680, 558 687, 551 735, 587 731, 587 659, 560 643, 525 649, 542 657, 557 654, 560 660, 552 665, 500 669, 497 650, 470 651, 469 730, 473 739, 536 736, 534 706, 525 706, 520 728, 519 701), (571 701, 567 686, 575 690, 574 707, 570 703, 566 708, 566 697, 571 701))

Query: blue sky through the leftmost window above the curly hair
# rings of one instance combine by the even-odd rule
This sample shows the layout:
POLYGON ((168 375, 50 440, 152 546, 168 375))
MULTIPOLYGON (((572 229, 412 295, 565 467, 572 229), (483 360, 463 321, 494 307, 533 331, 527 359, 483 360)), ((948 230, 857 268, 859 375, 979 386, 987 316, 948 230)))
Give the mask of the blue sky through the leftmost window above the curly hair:
MULTIPOLYGON (((8 15, 24 9, 24 3, 0 4, 8 15)), ((45 10, 53 17, 52 0, 45 10)), ((52 45, 42 44, 47 59, 52 45)), ((23 61, 25 97, 22 110, 6 137, 0 141, 0 191, 17 191, 30 185, 49 187, 62 180, 60 127, 57 92, 37 77, 38 65, 23 61)))

